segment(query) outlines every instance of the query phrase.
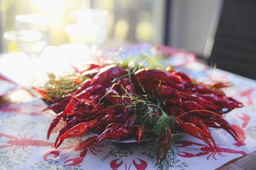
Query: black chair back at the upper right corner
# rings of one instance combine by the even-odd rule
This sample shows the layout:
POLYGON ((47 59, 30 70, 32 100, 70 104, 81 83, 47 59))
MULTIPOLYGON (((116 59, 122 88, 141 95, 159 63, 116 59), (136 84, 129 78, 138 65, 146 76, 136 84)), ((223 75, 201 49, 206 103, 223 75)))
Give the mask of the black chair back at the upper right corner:
POLYGON ((223 0, 209 64, 256 80, 256 0, 223 0))

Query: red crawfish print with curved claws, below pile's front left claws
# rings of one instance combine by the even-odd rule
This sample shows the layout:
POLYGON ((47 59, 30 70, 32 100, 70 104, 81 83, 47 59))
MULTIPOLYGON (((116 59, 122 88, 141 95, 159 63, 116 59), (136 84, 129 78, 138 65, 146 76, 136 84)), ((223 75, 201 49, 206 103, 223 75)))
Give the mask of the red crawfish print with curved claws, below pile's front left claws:
POLYGON ((53 156, 52 159, 57 159, 61 156, 61 157, 64 157, 65 159, 64 166, 78 166, 83 162, 88 151, 90 151, 93 155, 97 155, 97 152, 102 152, 100 148, 103 145, 96 145, 96 144, 91 145, 92 143, 90 143, 90 141, 92 141, 93 138, 94 137, 90 137, 85 140, 81 138, 76 138, 74 141, 70 141, 70 139, 68 139, 67 145, 64 146, 63 148, 56 148, 54 150, 49 150, 45 152, 43 156, 44 160, 47 161, 49 160, 49 157, 52 157, 52 156, 53 156), (60 155, 61 152, 63 153, 60 155), (70 158, 78 154, 79 154, 78 157, 70 158))

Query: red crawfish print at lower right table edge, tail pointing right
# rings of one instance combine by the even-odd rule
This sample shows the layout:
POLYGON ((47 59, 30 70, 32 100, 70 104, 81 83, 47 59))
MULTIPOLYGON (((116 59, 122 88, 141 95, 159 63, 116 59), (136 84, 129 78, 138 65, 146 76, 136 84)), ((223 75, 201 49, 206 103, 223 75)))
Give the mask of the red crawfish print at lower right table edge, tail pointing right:
POLYGON ((206 157, 207 160, 209 160, 211 157, 217 160, 216 154, 219 155, 220 157, 228 157, 227 154, 239 154, 241 156, 246 155, 246 152, 242 150, 222 148, 220 147, 220 145, 217 145, 217 150, 215 151, 205 144, 195 143, 191 141, 179 141, 177 146, 179 146, 179 148, 182 148, 182 150, 179 151, 178 155, 180 157, 185 157, 185 158, 207 156, 206 157), (191 146, 193 146, 193 148, 191 146), (198 148, 196 148, 196 146, 198 146, 198 148), (189 152, 197 152, 197 153, 189 153, 189 152))

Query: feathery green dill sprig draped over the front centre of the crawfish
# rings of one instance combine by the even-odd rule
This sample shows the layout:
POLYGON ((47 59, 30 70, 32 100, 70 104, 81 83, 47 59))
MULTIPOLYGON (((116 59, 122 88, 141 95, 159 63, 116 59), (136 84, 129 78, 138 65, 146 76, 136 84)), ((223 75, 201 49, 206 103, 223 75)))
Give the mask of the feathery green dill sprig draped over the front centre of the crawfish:
MULTIPOLYGON (((157 136, 166 134, 169 129, 173 132, 178 132, 175 128, 175 116, 167 115, 161 104, 163 102, 159 101, 154 95, 141 95, 141 96, 131 96, 125 90, 124 86, 121 85, 126 96, 111 96, 111 97, 126 97, 132 99, 131 103, 125 105, 126 108, 131 108, 134 112, 134 122, 136 124, 144 127, 148 132, 152 132, 157 136)), ((124 104, 122 104, 124 106, 124 104)), ((120 106, 120 104, 115 105, 120 106)))

